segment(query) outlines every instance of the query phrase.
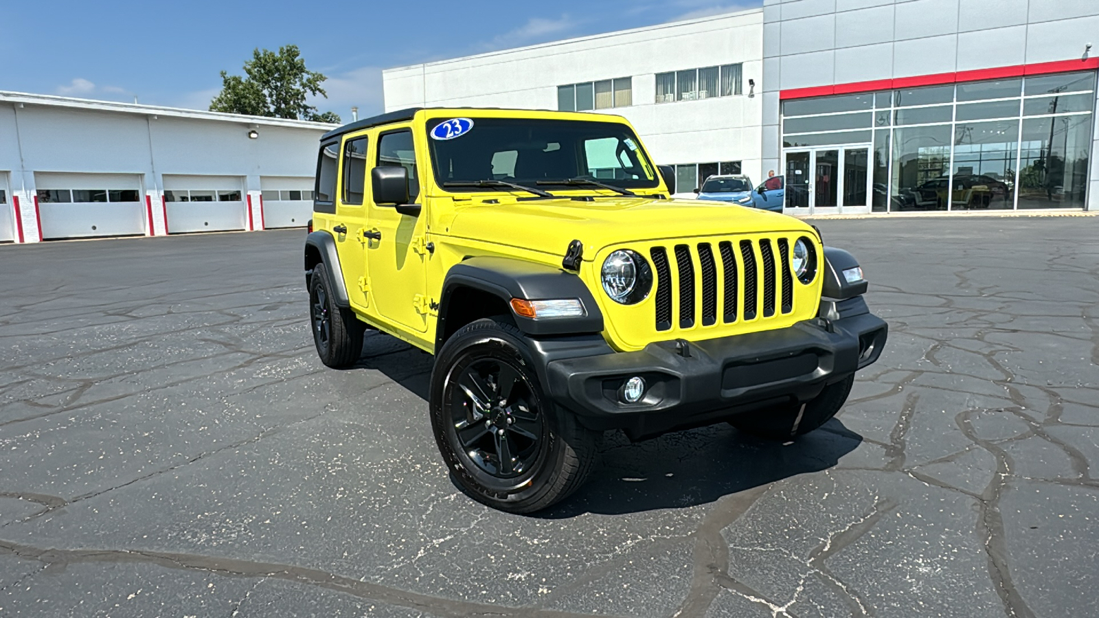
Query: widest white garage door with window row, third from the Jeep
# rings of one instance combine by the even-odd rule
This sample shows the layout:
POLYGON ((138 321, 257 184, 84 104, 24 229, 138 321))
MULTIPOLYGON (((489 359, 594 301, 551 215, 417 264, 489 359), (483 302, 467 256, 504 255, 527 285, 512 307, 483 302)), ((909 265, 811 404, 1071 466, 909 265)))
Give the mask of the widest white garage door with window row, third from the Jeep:
POLYGON ((137 174, 34 174, 42 238, 125 236, 145 233, 137 174))

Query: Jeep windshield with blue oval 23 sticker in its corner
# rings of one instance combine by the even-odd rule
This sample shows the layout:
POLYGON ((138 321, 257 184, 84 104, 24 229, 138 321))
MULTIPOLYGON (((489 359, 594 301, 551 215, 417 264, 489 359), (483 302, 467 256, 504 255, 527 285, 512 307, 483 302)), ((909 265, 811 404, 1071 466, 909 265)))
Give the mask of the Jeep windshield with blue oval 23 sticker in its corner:
MULTIPOLYGON (((475 118, 467 122, 428 121, 431 163, 440 186, 503 180, 553 189, 554 184, 547 180, 577 178, 598 179, 628 189, 659 186, 656 168, 642 152, 636 135, 619 122, 526 118, 475 118), (462 130, 444 131, 445 126, 441 126, 444 123, 462 130)), ((576 183, 560 187, 588 188, 576 183)), ((451 186, 446 190, 486 189, 451 186)))

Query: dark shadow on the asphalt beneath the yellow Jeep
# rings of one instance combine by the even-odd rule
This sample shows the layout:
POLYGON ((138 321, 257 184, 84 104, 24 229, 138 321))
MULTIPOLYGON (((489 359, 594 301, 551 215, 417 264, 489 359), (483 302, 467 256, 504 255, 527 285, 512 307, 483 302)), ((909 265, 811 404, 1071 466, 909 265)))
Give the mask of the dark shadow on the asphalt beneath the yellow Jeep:
MULTIPOLYGON (((355 367, 379 371, 422 399, 426 424, 432 362, 431 355, 411 345, 371 332, 355 367)), ((430 434, 425 439, 431 440, 430 434)), ((755 438, 725 423, 643 442, 630 442, 621 431, 608 431, 600 440, 599 459, 588 482, 563 503, 533 517, 567 519, 585 512, 621 515, 709 504, 833 467, 862 441, 862 435, 839 419, 786 443, 755 438)), ((434 440, 431 443, 434 448, 434 440)), ((456 483, 455 487, 460 490, 456 483)))

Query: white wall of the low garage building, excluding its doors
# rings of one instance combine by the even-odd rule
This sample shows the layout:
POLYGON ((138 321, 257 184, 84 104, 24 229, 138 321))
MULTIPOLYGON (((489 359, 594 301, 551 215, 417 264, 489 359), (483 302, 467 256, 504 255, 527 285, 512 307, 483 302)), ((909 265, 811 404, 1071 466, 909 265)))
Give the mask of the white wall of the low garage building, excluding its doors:
MULTIPOLYGON (((232 176, 243 179, 240 188, 256 196, 260 175, 312 178, 320 136, 330 129, 275 119, 270 120, 274 124, 264 124, 267 119, 224 118, 187 110, 157 113, 149 108, 134 113, 103 109, 113 103, 4 96, 42 99, 44 103, 0 101, 0 169, 11 170, 10 192, 21 195, 21 202, 33 199, 35 174, 126 174, 140 178, 141 188, 153 201, 154 218, 165 211, 159 208, 165 175, 232 176), (210 118, 195 118, 203 115, 210 118), (249 130, 259 136, 249 139, 249 130)), ((9 197, 9 207, 10 202, 9 197)), ((77 223, 81 229, 96 224, 90 220, 77 223)), ((163 220, 151 223, 135 233, 164 230, 163 220)), ((101 229, 97 224, 96 231, 101 229)), ((29 238, 36 240, 37 231, 29 238)))

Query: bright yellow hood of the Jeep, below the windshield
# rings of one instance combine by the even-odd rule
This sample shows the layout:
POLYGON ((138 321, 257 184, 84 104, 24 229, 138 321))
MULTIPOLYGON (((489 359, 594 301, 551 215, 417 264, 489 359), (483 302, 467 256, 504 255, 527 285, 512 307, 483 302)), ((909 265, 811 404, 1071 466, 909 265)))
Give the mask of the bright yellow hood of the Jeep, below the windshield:
MULTIPOLYGON (((798 219, 730 205, 692 199, 598 197, 473 202, 458 207, 444 228, 446 235, 564 255, 568 243, 585 244, 584 258, 620 243, 765 233, 811 228, 798 219)), ((439 232, 435 232, 439 233, 439 232)))

